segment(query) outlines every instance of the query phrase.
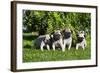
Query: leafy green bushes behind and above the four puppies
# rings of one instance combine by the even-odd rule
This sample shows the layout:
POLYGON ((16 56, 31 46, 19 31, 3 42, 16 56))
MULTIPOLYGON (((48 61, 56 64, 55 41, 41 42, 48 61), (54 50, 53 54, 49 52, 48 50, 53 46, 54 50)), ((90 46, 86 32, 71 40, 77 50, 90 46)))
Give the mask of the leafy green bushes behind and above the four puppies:
POLYGON ((70 28, 73 32, 90 31, 91 14, 23 10, 23 27, 27 27, 28 32, 37 31, 40 35, 64 28, 70 28))

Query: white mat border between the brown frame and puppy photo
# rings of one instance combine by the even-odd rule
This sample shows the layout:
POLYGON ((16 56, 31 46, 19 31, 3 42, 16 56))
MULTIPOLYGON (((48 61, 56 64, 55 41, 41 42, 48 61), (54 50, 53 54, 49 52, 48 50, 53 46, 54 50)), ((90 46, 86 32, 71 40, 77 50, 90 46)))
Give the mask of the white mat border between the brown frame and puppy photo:
POLYGON ((45 5, 29 5, 17 4, 17 69, 32 68, 50 68, 50 67, 66 67, 66 66, 82 66, 96 64, 96 10, 95 8, 81 7, 63 7, 63 6, 45 6, 45 5), (62 12, 82 12, 91 13, 91 59, 90 60, 74 60, 74 61, 57 61, 57 62, 33 62, 23 63, 22 61, 22 10, 45 10, 45 11, 62 11, 62 12))

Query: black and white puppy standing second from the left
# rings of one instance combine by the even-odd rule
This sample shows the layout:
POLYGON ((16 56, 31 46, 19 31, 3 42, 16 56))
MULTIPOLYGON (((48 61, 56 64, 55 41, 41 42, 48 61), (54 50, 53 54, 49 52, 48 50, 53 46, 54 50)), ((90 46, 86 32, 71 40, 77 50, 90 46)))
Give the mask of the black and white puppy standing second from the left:
POLYGON ((63 46, 63 38, 60 30, 56 30, 51 34, 51 40, 52 40, 52 48, 54 51, 56 47, 61 48, 62 51, 65 51, 63 46))

